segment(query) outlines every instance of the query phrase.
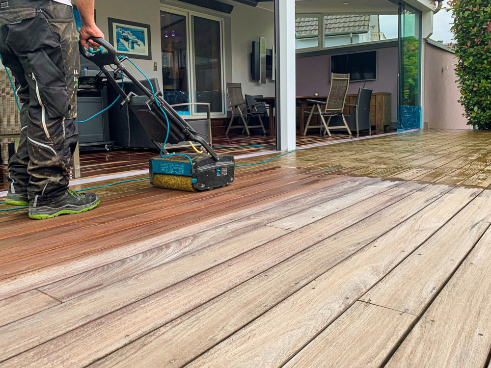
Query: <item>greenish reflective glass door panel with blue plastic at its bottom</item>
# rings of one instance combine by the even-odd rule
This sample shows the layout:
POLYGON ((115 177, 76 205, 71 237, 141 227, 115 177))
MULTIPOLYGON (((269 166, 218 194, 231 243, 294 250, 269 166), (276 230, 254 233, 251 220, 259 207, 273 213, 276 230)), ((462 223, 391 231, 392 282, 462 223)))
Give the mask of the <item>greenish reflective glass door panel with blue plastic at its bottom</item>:
POLYGON ((398 131, 421 128, 421 14, 407 5, 399 14, 398 131))

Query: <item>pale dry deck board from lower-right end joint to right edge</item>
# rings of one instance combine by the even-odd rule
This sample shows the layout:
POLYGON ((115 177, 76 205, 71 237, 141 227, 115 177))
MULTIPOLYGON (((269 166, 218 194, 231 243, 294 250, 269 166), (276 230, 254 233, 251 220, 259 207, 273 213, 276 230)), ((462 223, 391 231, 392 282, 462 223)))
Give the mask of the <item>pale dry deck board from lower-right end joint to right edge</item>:
POLYGON ((490 224, 486 190, 361 300, 420 316, 490 224))

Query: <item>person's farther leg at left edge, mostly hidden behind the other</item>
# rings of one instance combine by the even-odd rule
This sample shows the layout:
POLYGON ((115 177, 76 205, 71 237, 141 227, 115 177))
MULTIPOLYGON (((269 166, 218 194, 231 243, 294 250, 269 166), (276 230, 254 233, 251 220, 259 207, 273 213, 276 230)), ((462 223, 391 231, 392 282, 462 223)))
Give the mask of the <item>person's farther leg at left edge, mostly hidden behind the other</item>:
POLYGON ((27 152, 27 110, 29 108, 29 85, 19 58, 5 44, 6 36, 7 29, 1 27, 0 55, 2 64, 10 69, 13 77, 20 84, 20 88, 17 89, 17 96, 22 109, 20 112, 21 137, 19 148, 8 163, 8 194, 5 203, 11 206, 28 206, 27 184, 30 175, 27 173, 27 165, 29 163, 29 154, 27 152))

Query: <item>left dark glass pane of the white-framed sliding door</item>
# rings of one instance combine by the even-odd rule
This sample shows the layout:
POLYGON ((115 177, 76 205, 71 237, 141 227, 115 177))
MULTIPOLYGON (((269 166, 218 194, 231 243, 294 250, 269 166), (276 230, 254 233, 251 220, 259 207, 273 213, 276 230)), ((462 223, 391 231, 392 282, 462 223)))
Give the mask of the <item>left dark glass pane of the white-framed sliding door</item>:
MULTIPOLYGON (((161 11, 160 27, 164 100, 170 105, 188 103, 186 16, 161 11)), ((190 114, 189 106, 178 106, 175 109, 180 114, 190 114)))

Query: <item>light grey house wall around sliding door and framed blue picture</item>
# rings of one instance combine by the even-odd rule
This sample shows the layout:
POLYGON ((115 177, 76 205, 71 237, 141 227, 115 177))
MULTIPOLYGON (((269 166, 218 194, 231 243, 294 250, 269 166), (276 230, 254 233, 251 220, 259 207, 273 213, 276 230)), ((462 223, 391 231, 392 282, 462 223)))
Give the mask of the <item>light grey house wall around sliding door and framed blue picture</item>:
MULTIPOLYGON (((192 11, 223 18, 224 66, 225 81, 242 83, 243 92, 249 95, 274 96, 274 82, 267 79, 266 84, 252 80, 250 73, 250 53, 252 41, 266 37, 266 47, 274 45, 274 13, 267 9, 251 7, 234 2, 231 14, 220 13, 200 6, 175 0, 139 0, 138 5, 132 0, 114 1, 96 0, 97 25, 109 37, 108 18, 122 19, 149 24, 151 27, 152 60, 134 59, 136 65, 149 78, 159 79, 162 86, 162 57, 160 40, 160 7, 161 4, 182 11, 192 11), (153 63, 157 63, 157 71, 153 63)), ((129 66, 132 73, 138 72, 129 66)), ((228 106, 226 93, 225 106, 228 106)))

